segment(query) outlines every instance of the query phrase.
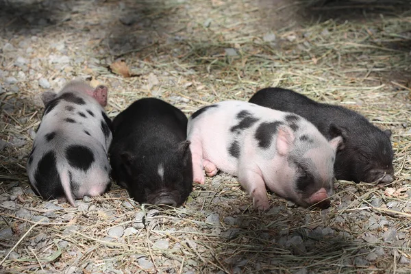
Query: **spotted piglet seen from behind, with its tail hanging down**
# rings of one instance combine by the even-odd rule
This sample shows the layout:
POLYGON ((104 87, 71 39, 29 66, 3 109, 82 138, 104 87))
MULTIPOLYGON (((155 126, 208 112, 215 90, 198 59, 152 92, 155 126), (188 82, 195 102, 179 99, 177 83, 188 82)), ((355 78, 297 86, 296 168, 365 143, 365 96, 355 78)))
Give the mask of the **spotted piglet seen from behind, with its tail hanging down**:
POLYGON ((27 160, 27 175, 43 199, 66 199, 75 206, 75 199, 110 188, 112 132, 103 109, 107 93, 105 86, 70 82, 58 94, 42 94, 45 112, 27 160))

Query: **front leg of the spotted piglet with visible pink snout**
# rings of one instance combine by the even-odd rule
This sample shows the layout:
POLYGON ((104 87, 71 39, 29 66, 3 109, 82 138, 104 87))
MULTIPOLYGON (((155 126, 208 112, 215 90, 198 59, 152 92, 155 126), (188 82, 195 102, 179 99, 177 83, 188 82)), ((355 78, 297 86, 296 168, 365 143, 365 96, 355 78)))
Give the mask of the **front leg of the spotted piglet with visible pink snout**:
POLYGON ((253 198, 254 208, 258 210, 268 210, 270 208, 266 186, 262 176, 259 173, 250 169, 240 168, 240 172, 238 173, 238 181, 253 198))

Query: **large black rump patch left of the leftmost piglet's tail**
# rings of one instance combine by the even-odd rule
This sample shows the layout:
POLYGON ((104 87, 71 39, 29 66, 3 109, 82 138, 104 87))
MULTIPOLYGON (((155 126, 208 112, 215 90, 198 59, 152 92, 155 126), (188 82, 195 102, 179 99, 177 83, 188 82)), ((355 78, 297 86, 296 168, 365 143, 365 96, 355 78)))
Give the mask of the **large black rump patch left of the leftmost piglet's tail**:
POLYGON ((58 199, 64 196, 54 151, 49 151, 42 156, 34 173, 34 180, 39 192, 37 194, 43 199, 58 199))

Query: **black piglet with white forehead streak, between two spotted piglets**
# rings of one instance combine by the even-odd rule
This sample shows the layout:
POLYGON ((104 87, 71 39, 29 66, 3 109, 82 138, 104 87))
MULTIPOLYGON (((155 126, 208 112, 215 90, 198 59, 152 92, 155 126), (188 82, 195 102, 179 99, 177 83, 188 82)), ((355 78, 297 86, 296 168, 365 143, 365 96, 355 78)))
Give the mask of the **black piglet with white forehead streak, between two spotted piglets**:
POLYGON ((186 130, 186 115, 165 101, 129 105, 113 121, 113 179, 139 203, 182 205, 192 190, 186 130))

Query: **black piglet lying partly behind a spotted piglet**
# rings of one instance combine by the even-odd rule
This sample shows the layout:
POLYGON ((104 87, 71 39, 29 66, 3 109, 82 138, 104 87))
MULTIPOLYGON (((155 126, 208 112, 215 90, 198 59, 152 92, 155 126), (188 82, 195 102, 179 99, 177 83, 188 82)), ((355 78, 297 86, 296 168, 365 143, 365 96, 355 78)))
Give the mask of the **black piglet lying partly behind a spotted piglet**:
POLYGON ((264 88, 249 101, 299 114, 313 123, 328 140, 334 138, 331 127, 338 127, 345 146, 336 155, 334 172, 337 179, 382 184, 395 179, 389 129, 382 131, 357 112, 338 105, 317 103, 284 88, 264 88))

